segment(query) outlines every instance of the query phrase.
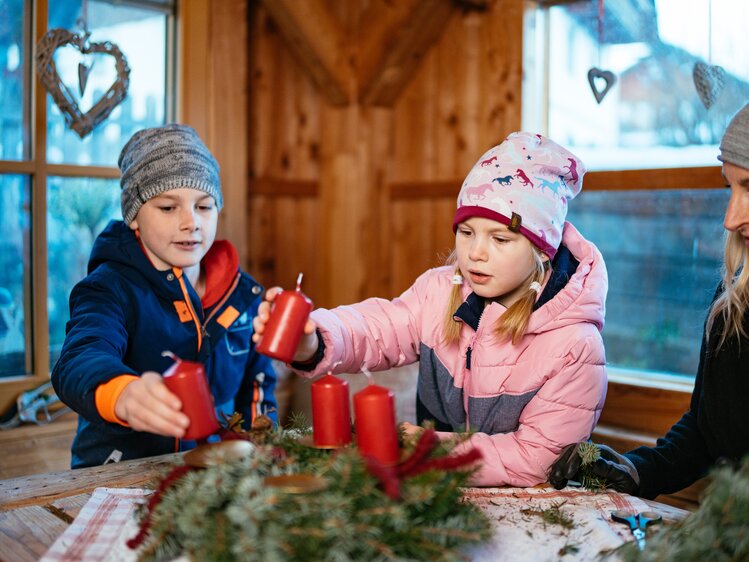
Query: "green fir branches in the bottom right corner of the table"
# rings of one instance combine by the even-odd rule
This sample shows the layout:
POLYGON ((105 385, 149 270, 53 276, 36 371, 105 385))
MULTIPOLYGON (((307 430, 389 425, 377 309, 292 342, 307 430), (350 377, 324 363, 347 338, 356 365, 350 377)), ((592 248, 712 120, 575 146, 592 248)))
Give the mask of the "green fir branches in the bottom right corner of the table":
POLYGON ((697 511, 652 535, 649 531, 643 551, 627 543, 620 554, 640 562, 749 560, 749 456, 738 468, 712 472, 697 511))

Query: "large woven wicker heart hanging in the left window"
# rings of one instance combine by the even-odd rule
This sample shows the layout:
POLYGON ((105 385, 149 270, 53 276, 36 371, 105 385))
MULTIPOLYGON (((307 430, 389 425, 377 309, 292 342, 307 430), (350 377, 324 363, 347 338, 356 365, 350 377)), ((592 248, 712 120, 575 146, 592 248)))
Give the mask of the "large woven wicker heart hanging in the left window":
MULTIPOLYGON (((86 36, 78 35, 67 29, 50 29, 41 38, 36 49, 36 72, 39 75, 39 81, 52 96, 55 105, 60 108, 65 117, 65 123, 78 133, 79 137, 83 138, 93 131, 125 99, 130 84, 130 67, 127 65, 127 60, 122 51, 114 43, 105 41, 89 44, 86 36), (84 55, 103 54, 110 55, 115 59, 117 78, 86 113, 81 111, 72 92, 57 73, 55 51, 66 45, 75 47, 84 55)), ((79 66, 78 80, 81 92, 86 88, 89 71, 89 69, 85 69, 81 72, 79 66)))

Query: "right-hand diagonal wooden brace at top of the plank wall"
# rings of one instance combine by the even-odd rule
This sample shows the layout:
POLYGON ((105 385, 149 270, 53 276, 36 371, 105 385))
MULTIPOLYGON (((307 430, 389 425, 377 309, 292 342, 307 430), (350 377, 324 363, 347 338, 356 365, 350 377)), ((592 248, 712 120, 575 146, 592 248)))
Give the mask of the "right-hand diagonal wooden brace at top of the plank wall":
POLYGON ((372 2, 359 37, 359 100, 391 107, 455 11, 452 0, 372 2))

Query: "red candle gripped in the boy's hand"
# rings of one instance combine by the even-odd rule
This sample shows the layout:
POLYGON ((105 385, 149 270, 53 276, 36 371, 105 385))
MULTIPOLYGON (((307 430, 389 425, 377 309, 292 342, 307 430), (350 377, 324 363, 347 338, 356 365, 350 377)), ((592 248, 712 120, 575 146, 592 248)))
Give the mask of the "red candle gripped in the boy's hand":
POLYGON ((169 355, 175 361, 162 375, 164 384, 177 395, 182 402, 182 412, 190 418, 183 439, 193 441, 213 435, 219 430, 219 425, 203 365, 183 361, 168 351, 164 355, 169 355))

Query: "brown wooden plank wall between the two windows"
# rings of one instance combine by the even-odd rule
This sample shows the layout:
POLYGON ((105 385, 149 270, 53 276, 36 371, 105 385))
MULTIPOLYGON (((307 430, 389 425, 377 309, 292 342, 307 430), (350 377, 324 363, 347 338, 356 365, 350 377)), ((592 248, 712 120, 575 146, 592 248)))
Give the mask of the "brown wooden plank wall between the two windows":
POLYGON ((312 45, 318 58, 299 54, 300 42, 315 39, 303 22, 289 23, 284 4, 250 5, 247 265, 266 285, 291 286, 304 271, 319 306, 396 296, 449 252, 469 168, 520 127, 522 1, 476 10, 330 0, 322 10, 341 33, 332 47, 312 45), (398 25, 381 29, 388 21, 398 25), (422 46, 399 67, 387 55, 407 48, 406 33, 422 46), (372 34, 385 45, 380 82, 371 78, 372 34), (387 82, 409 64, 399 84, 387 82))

